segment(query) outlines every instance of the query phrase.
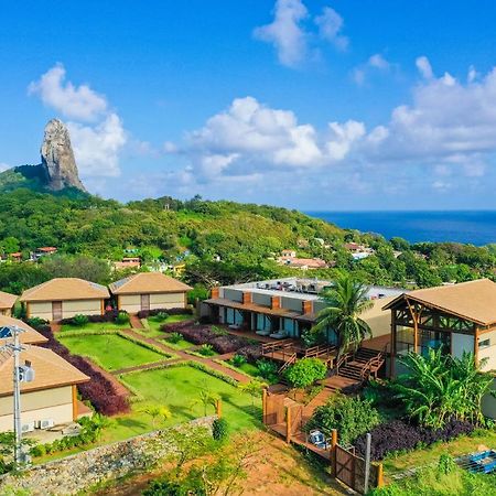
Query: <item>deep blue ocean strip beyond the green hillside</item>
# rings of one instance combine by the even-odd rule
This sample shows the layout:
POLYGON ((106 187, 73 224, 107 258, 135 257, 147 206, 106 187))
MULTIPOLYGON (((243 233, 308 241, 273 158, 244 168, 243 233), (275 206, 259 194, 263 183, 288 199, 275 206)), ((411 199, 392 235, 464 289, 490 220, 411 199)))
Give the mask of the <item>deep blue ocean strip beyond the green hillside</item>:
POLYGON ((395 236, 410 242, 496 242, 496 211, 460 212, 305 212, 346 229, 395 236))

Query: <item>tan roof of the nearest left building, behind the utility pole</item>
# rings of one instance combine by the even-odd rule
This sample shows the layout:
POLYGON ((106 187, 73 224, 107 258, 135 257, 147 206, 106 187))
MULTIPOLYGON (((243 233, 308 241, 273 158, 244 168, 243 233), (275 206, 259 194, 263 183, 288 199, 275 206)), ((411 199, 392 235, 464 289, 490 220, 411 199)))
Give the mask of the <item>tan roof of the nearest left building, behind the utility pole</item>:
MULTIPOLYGON (((47 348, 28 346, 21 352, 19 363, 22 365, 25 360, 31 362, 35 376, 32 382, 21 384, 21 391, 51 389, 89 380, 88 376, 47 348)), ((13 357, 3 354, 0 357, 0 396, 12 395, 12 367, 13 357)))

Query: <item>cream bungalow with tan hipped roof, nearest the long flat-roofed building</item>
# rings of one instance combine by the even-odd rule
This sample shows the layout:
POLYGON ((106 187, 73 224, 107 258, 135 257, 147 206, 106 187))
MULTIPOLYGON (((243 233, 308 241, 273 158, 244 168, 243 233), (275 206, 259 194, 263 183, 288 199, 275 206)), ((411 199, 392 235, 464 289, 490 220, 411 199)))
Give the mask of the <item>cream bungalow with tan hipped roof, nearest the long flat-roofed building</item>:
POLYGON ((162 272, 140 272, 110 284, 117 308, 129 313, 140 310, 186 306, 186 292, 192 288, 162 272))

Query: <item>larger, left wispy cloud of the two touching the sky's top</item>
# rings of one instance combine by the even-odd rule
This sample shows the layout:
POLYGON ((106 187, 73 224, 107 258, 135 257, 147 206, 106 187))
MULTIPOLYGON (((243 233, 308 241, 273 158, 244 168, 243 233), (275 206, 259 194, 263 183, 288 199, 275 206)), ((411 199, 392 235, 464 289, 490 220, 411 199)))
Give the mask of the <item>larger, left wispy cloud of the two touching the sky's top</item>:
POLYGON ((256 28, 254 35, 274 45, 282 65, 298 66, 306 52, 306 33, 301 26, 306 17, 308 10, 301 0, 278 0, 273 21, 256 28))

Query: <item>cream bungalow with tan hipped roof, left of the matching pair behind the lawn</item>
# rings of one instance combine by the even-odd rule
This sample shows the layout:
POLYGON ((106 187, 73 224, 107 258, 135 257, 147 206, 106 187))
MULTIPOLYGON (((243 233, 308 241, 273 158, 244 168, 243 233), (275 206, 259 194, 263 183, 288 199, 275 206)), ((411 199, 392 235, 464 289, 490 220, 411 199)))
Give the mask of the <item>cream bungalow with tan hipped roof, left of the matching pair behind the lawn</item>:
POLYGON ((20 301, 28 317, 61 321, 77 314, 104 314, 108 289, 76 278, 56 278, 25 290, 20 301))

